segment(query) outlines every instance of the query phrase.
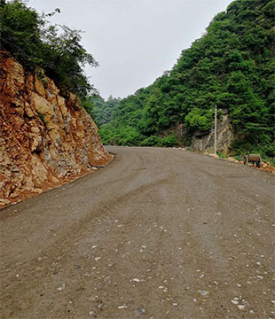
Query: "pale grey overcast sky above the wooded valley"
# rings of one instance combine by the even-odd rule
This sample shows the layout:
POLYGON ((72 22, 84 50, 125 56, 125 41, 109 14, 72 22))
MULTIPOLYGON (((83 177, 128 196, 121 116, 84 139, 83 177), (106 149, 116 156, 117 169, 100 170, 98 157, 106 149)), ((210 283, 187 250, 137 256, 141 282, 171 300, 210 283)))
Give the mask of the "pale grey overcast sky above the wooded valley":
POLYGON ((99 63, 86 67, 102 97, 126 97, 170 70, 232 0, 29 0, 51 23, 85 31, 83 47, 99 63))

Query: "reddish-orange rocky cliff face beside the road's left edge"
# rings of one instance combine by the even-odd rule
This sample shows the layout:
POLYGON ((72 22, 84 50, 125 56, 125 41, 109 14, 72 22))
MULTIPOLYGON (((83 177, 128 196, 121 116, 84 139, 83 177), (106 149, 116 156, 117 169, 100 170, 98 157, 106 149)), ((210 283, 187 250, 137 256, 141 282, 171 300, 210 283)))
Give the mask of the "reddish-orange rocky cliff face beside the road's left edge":
POLYGON ((0 206, 103 166, 111 155, 75 95, 0 52, 0 206), (38 75, 37 75, 38 74, 38 75))

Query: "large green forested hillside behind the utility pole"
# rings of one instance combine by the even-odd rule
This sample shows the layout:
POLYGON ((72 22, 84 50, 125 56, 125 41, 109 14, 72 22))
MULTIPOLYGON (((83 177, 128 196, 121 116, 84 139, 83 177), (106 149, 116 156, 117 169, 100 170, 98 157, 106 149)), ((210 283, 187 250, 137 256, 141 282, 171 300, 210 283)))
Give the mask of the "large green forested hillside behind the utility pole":
POLYGON ((196 129, 212 128, 217 105, 230 116, 232 150, 274 156, 274 39, 274 0, 232 2, 171 71, 116 105, 99 130, 103 142, 188 144, 196 129), (188 130, 184 141, 169 136, 176 123, 188 130))

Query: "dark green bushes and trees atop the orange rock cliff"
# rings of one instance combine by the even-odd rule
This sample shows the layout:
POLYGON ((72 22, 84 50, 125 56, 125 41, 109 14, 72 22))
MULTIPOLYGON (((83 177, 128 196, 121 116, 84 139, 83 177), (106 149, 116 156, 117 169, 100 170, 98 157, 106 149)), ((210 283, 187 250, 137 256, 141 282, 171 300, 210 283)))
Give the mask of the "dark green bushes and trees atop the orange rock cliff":
POLYGON ((0 0, 0 47, 28 71, 40 66, 60 89, 85 97, 94 88, 83 66, 98 63, 81 45, 81 31, 50 25, 48 17, 58 12, 40 15, 23 1, 0 0))

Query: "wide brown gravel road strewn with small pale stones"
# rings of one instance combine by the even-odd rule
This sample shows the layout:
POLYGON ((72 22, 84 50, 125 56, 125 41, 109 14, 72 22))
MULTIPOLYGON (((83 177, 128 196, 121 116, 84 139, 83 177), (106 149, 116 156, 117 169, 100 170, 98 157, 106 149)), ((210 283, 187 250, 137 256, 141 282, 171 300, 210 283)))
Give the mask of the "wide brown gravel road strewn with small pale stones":
POLYGON ((1 318, 275 318, 275 176, 107 149, 107 167, 0 211, 1 318))

